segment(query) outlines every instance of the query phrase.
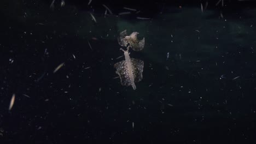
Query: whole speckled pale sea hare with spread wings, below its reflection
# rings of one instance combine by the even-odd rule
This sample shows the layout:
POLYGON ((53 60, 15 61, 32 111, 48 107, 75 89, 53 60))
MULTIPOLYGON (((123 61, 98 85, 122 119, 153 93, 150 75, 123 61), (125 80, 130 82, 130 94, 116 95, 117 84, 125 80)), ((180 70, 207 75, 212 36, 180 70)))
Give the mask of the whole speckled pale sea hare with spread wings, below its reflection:
POLYGON ((127 47, 126 51, 120 49, 124 51, 125 61, 115 63, 114 68, 117 69, 115 73, 119 75, 121 85, 132 86, 132 88, 135 90, 135 82, 139 82, 142 80, 144 62, 139 59, 130 58, 129 47, 130 46, 127 47))

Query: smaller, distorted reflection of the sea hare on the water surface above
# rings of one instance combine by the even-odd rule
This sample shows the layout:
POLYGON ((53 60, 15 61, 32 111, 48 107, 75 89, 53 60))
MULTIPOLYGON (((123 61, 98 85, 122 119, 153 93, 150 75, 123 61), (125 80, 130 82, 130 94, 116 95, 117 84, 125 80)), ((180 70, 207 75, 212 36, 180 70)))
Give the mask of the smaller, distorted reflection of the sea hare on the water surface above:
POLYGON ((127 46, 127 44, 130 44, 133 51, 141 51, 144 48, 145 38, 138 40, 137 34, 139 33, 133 32, 127 36, 126 30, 121 32, 120 37, 118 38, 118 44, 121 46, 127 46))

